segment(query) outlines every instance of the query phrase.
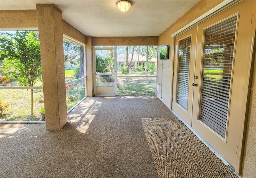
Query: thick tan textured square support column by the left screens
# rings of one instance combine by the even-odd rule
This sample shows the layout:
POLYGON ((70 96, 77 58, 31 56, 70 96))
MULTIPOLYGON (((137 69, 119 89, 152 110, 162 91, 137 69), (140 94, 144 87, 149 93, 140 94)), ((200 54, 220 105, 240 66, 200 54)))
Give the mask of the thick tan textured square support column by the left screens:
POLYGON ((42 60, 46 129, 67 122, 62 11, 54 4, 36 4, 42 60))

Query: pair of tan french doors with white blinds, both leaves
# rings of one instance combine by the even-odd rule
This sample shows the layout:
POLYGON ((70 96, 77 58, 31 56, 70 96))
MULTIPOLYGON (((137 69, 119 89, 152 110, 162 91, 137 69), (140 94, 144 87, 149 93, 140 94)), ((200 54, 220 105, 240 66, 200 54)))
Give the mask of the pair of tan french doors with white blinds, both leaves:
POLYGON ((236 172, 255 33, 242 3, 175 37, 172 90, 172 110, 236 172))

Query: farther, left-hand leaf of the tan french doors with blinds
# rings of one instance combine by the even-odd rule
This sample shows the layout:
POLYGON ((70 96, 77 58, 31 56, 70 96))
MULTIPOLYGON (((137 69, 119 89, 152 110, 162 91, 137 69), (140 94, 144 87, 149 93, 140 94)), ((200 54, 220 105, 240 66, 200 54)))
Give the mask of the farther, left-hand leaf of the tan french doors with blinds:
POLYGON ((175 38, 172 110, 191 126, 196 27, 175 38))

